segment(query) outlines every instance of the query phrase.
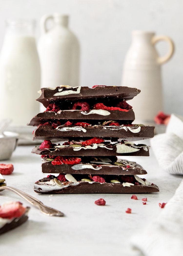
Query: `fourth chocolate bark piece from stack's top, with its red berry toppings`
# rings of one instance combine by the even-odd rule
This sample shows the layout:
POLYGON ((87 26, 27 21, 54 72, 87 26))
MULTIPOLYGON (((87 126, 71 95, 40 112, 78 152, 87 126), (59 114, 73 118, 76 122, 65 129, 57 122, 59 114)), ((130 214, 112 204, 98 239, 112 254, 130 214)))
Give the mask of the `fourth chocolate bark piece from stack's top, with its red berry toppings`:
POLYGON ((145 144, 136 145, 128 141, 110 143, 95 137, 82 142, 66 142, 64 145, 45 140, 39 147, 34 147, 32 153, 55 156, 149 156, 149 148, 145 144))

